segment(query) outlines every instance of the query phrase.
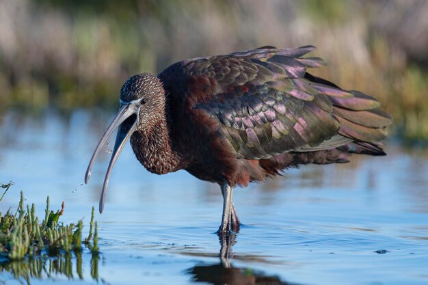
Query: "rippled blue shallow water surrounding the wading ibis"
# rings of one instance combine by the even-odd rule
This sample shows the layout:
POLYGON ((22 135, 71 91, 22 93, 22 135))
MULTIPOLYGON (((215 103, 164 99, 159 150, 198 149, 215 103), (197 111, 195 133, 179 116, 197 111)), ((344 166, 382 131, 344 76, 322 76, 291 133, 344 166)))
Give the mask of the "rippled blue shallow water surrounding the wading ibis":
MULTIPOLYGON (((44 216, 88 225, 109 160, 108 148, 83 176, 112 113, 7 113, 0 120, 0 183, 15 182, 44 216)), ((112 141, 111 141, 112 142, 112 141)), ((222 213, 217 185, 180 171, 156 176, 126 146, 113 169, 105 212, 96 215, 101 256, 62 256, 0 267, 6 284, 428 284, 428 155, 388 144, 387 157, 290 169, 236 189, 243 223, 231 268, 218 258, 222 213), (61 265, 62 264, 62 265, 61 265), (68 264, 64 266, 64 264, 68 264), (25 271, 40 267, 39 271, 25 271), (21 268, 21 271, 18 270, 21 268), (23 269, 22 269, 23 268, 23 269)), ((87 227, 86 227, 87 228, 87 227)))

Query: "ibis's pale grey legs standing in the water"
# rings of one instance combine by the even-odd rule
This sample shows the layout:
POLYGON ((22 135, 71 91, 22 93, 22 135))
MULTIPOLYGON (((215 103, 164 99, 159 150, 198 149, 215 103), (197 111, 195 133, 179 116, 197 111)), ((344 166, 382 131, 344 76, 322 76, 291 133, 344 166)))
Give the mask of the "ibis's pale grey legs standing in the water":
POLYGON ((226 232, 239 232, 239 219, 237 216, 237 211, 232 202, 232 187, 228 185, 227 182, 220 185, 222 188, 223 195, 223 215, 222 215, 222 226, 220 226, 218 232, 219 234, 224 234, 226 232))

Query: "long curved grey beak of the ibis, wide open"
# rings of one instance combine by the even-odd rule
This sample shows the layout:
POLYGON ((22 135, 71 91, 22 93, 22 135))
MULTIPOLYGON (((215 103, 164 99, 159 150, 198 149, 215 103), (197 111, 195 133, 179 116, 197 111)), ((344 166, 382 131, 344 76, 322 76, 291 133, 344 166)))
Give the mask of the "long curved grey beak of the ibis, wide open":
POLYGON ((118 128, 118 133, 116 135, 116 142, 114 143, 114 148, 113 148, 113 152, 111 153, 109 167, 107 168, 107 173, 105 174, 105 178, 104 178, 103 190, 101 191, 100 213, 103 213, 103 210, 104 210, 105 193, 107 192, 107 185, 109 184, 111 169, 113 169, 113 165, 114 163, 116 163, 116 160, 118 159, 120 152, 122 151, 124 145, 126 144, 126 141, 128 141, 129 137, 131 137, 131 135, 135 131, 135 128, 137 127, 138 109, 139 107, 134 103, 120 105, 119 112, 117 113, 116 117, 114 117, 113 121, 111 122, 107 130, 105 130, 103 137, 101 137, 100 142, 98 142, 98 145, 94 150, 94 154, 92 154, 92 158, 89 162, 88 169, 86 170, 85 184, 88 184, 89 178, 91 176, 92 165, 94 165, 96 157, 100 153, 101 148, 103 148, 103 146, 107 143, 107 140, 109 139, 109 137, 111 137, 111 134, 113 133, 113 131, 116 128, 118 128), (130 118, 133 115, 135 115, 136 117, 135 122, 133 123, 128 121, 125 122, 126 119, 130 118))

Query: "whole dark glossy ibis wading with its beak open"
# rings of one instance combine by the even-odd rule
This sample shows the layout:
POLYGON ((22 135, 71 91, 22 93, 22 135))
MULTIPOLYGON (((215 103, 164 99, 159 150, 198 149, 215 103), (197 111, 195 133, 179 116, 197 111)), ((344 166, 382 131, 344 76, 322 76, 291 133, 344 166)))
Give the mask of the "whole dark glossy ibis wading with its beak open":
POLYGON ((217 183, 223 195, 219 234, 238 232, 235 187, 306 164, 346 163, 351 154, 385 155, 392 116, 373 96, 308 72, 325 65, 304 57, 315 46, 263 46, 186 59, 159 74, 141 73, 120 90, 120 109, 92 154, 85 174, 113 131, 116 142, 101 191, 126 141, 154 174, 185 169, 217 183))

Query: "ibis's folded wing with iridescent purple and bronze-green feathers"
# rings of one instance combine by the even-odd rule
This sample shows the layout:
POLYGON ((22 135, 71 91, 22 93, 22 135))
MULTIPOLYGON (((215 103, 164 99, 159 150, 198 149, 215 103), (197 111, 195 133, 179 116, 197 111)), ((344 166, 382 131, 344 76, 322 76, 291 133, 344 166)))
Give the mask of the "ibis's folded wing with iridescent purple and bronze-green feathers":
POLYGON ((378 145, 392 118, 375 98, 308 74, 307 68, 325 65, 319 57, 301 58, 313 49, 265 46, 188 59, 159 78, 170 104, 183 113, 204 110, 217 121, 211 131, 238 157, 269 159, 341 147, 383 154, 378 145))

